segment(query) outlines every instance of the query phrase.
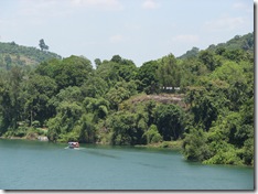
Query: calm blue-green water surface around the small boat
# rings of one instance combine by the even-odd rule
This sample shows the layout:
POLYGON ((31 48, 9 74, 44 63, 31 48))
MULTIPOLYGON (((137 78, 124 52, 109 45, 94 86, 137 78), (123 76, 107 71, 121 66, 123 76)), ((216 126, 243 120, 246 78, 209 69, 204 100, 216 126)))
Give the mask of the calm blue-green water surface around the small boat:
POLYGON ((254 169, 176 151, 0 139, 1 190, 254 190, 254 169))

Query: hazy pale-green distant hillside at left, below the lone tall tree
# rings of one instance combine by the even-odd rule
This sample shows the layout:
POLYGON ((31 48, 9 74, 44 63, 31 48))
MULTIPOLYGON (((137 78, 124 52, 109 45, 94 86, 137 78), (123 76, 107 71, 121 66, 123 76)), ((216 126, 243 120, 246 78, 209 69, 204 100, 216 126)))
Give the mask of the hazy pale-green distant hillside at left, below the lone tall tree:
POLYGON ((10 69, 12 66, 34 66, 51 58, 62 58, 60 55, 41 51, 36 47, 18 45, 14 42, 0 42, 0 68, 10 69))

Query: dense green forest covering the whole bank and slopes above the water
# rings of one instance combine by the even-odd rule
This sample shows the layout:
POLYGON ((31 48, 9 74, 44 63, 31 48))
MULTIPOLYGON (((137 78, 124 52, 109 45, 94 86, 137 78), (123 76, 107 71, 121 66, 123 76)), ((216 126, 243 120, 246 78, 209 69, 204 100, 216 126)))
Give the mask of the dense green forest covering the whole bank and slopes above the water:
MULTIPOLYGON (((2 138, 181 142, 187 160, 254 165, 254 33, 140 67, 119 55, 95 65, 83 56, 52 55, 35 67, 6 60, 26 52, 14 43, 1 46, 2 138)), ((39 58, 50 53, 34 52, 39 58)))

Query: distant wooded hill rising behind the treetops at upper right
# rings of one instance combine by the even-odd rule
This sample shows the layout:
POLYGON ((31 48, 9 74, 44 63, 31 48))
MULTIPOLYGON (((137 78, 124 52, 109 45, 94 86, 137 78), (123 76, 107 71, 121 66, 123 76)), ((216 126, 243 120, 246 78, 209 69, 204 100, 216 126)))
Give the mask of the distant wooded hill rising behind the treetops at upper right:
MULTIPOLYGON (((244 50, 247 52, 254 52, 254 32, 245 35, 235 35, 235 37, 230 39, 226 43, 218 43, 217 45, 211 44, 206 51, 216 51, 217 48, 226 48, 226 50, 244 50)), ((187 51, 185 54, 179 56, 178 58, 187 58, 197 56, 200 48, 193 47, 187 51)))

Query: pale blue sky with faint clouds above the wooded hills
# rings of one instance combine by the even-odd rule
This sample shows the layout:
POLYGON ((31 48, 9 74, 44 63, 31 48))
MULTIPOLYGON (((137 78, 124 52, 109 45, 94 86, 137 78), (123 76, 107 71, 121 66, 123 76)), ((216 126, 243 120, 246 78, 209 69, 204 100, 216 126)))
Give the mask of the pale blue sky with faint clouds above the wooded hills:
POLYGON ((254 31, 252 0, 0 0, 0 42, 132 60, 204 50, 254 31))

